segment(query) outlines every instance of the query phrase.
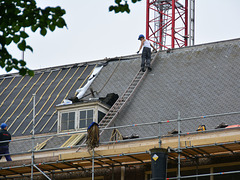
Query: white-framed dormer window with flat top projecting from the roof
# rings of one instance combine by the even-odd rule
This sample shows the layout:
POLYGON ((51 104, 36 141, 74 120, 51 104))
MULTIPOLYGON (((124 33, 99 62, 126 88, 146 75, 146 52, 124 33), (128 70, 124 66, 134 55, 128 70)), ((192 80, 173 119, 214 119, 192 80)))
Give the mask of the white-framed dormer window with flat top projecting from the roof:
POLYGON ((58 132, 86 129, 92 122, 99 123, 109 106, 99 101, 57 106, 58 132))

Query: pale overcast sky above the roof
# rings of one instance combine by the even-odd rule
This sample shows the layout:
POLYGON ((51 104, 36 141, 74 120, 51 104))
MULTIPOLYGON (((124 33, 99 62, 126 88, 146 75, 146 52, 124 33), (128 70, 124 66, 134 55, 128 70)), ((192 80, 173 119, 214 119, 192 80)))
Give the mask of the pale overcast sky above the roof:
MULTIPOLYGON (((195 0, 195 44, 240 37, 239 0, 195 0)), ((131 2, 130 0, 128 1, 131 2)), ((37 0, 38 6, 61 6, 68 29, 29 33, 25 60, 31 69, 100 60, 135 54, 139 34, 145 34, 146 0, 130 3, 131 13, 108 11, 114 0, 37 0)), ((12 49, 21 58, 22 53, 12 49)), ((5 74, 0 69, 0 74, 5 74)))

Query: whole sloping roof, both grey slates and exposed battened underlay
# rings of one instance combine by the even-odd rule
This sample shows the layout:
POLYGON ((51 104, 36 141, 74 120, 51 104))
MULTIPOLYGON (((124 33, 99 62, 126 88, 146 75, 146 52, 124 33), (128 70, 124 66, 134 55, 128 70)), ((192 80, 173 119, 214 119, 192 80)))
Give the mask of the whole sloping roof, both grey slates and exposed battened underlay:
MULTIPOLYGON (((32 80, 27 76, 24 78, 20 76, 14 78, 14 75, 0 76, 0 88, 3 89, 0 93, 0 100, 3 102, 3 105, 0 105, 0 112, 6 111, 0 118, 0 122, 10 117, 8 123, 12 123, 11 133, 14 133, 17 126, 21 125, 14 135, 30 134, 31 124, 29 127, 28 124, 31 123, 32 115, 27 116, 27 114, 31 111, 32 104, 27 106, 28 111, 24 111, 19 118, 16 119, 16 117, 30 102, 33 92, 40 88, 37 95, 43 94, 43 97, 40 100, 40 97, 36 96, 36 102, 40 100, 36 112, 41 110, 36 121, 38 122, 39 119, 41 121, 36 127, 36 132, 56 132, 57 116, 54 106, 61 103, 64 98, 73 96, 76 89, 84 84, 94 66, 102 63, 105 66, 91 87, 98 92, 100 97, 105 97, 108 93, 121 96, 139 71, 141 58, 139 55, 133 55, 96 61, 89 65, 53 67, 48 70, 39 70, 32 80), (81 73, 83 73, 82 76, 81 73), (60 82, 59 85, 58 82, 60 82), (64 86, 66 83, 67 85, 64 86), (26 88, 21 91, 25 84, 26 88), (49 88, 48 85, 50 85, 49 88), (17 95, 20 91, 21 93, 17 95), (12 100, 14 100, 13 104, 11 104, 12 100), (20 106, 17 107, 19 104, 20 106), (23 121, 26 116, 27 118, 23 121)), ((178 112, 184 118, 239 111, 239 72, 240 39, 179 48, 170 53, 162 51, 158 53, 153 64, 153 71, 148 72, 134 96, 111 126, 176 119, 178 112)), ((89 92, 87 91, 86 94, 89 92)), ((181 130, 182 132, 195 131, 201 124, 207 125, 207 129, 214 129, 221 122, 229 125, 240 124, 240 115, 185 121, 181 124, 181 130)), ((163 124, 161 134, 167 134, 174 128, 177 129, 176 123, 163 124)), ((119 131, 122 135, 136 133, 140 137, 149 137, 157 136, 159 127, 156 125, 131 127, 119 129, 119 131)), ((105 131, 101 140, 109 140, 110 133, 110 131, 105 131)), ((66 136, 54 137, 46 147, 60 147, 66 139, 66 136)), ((14 151, 13 148, 12 151, 14 151)))

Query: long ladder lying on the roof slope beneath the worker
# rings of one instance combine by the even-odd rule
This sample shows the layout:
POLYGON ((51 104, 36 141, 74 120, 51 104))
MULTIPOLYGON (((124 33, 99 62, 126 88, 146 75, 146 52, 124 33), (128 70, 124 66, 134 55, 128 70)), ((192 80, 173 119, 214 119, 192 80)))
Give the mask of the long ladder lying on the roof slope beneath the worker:
MULTIPOLYGON (((151 64, 155 61, 158 53, 153 58, 151 64)), ((124 105, 128 102, 128 100, 131 98, 131 96, 134 94, 137 87, 140 85, 141 81, 146 76, 148 70, 145 72, 142 72, 141 70, 138 71, 138 73, 133 78, 130 85, 127 87, 126 91, 123 93, 121 97, 117 99, 117 101, 113 104, 113 106, 109 109, 108 113, 103 117, 103 119, 99 123, 99 127, 106 128, 110 125, 110 123, 117 117, 117 115, 121 112, 124 105)), ((100 135, 103 133, 101 131, 100 135)))

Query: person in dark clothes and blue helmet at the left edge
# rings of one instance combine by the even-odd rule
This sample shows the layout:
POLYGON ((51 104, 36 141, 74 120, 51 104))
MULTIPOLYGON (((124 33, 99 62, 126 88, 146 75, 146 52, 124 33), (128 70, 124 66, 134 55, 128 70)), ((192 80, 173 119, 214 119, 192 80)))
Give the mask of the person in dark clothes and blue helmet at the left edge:
POLYGON ((0 160, 2 159, 3 154, 6 154, 5 155, 6 160, 12 161, 9 155, 9 142, 11 139, 12 139, 11 134, 7 131, 7 124, 2 123, 1 130, 0 130, 0 160), (2 141, 8 141, 8 142, 2 142, 2 141))

